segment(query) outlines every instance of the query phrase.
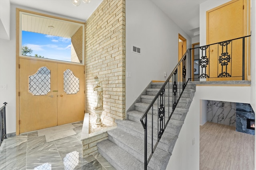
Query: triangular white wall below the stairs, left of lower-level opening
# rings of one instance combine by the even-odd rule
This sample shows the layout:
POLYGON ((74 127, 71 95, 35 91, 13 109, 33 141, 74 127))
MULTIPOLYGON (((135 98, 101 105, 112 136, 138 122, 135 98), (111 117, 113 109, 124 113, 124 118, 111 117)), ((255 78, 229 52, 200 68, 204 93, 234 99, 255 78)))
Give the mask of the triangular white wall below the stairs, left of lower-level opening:
POLYGON ((195 93, 166 170, 199 170, 199 112, 200 100, 195 93))

